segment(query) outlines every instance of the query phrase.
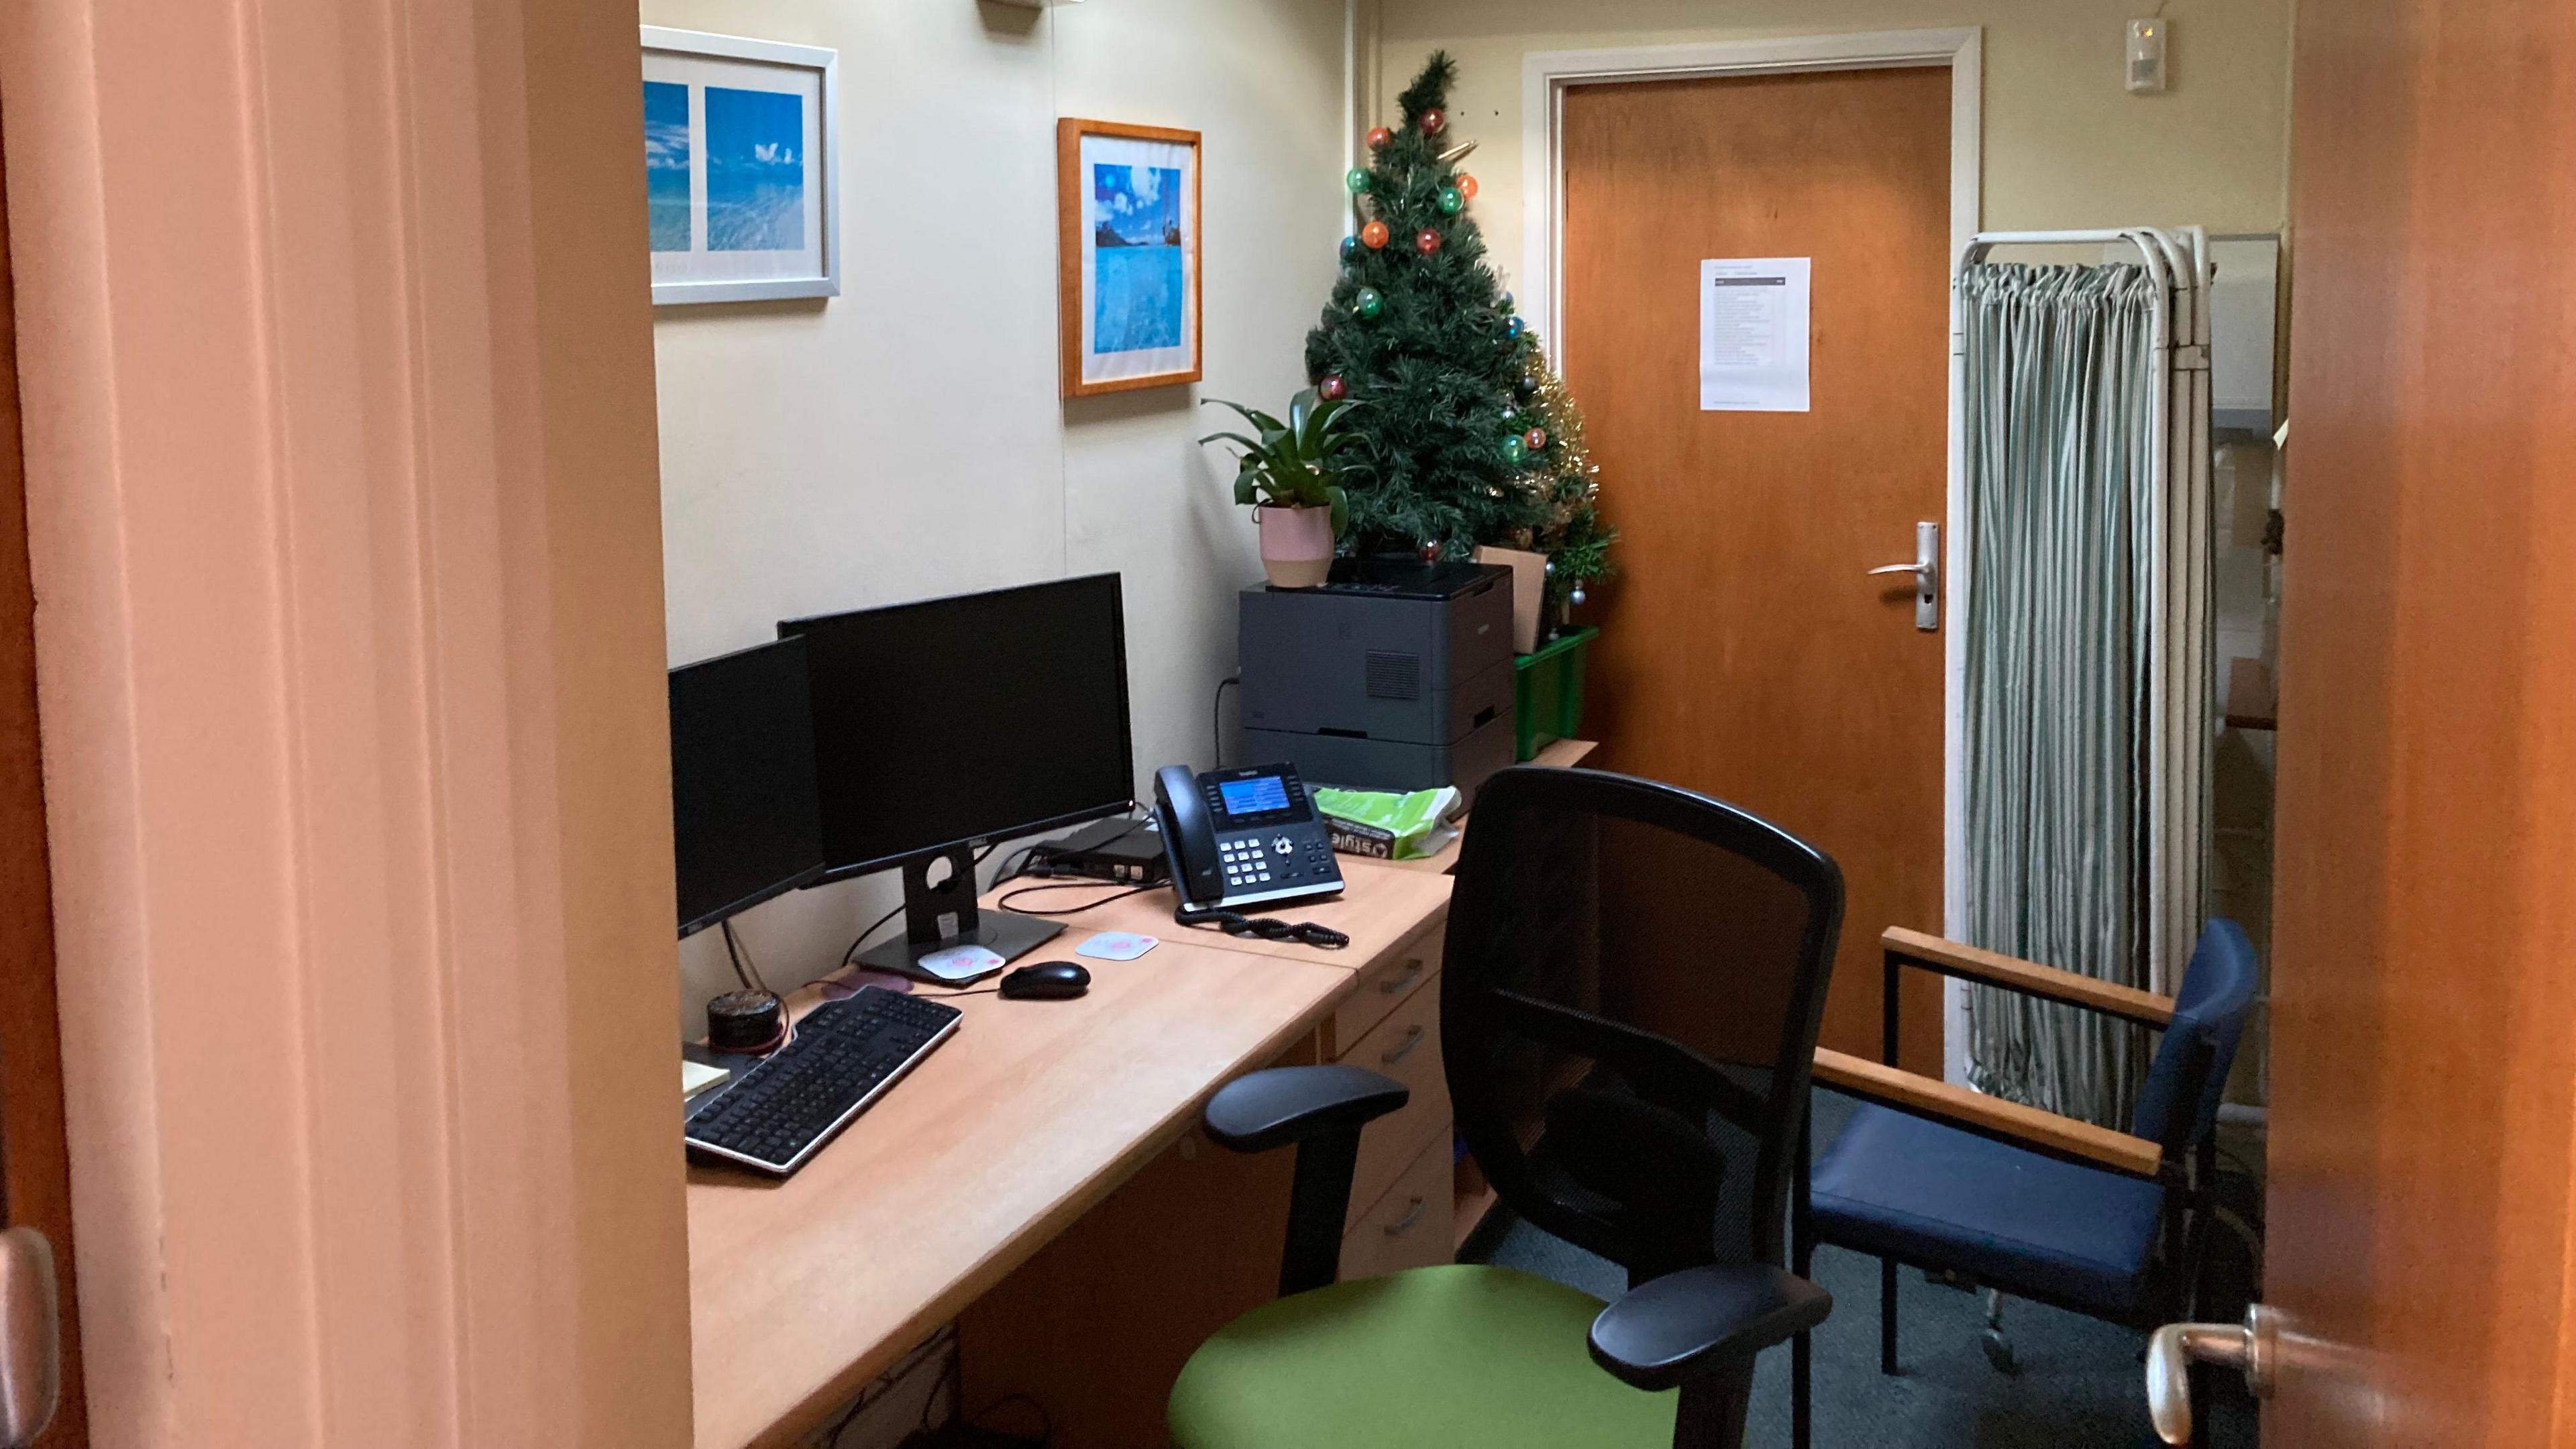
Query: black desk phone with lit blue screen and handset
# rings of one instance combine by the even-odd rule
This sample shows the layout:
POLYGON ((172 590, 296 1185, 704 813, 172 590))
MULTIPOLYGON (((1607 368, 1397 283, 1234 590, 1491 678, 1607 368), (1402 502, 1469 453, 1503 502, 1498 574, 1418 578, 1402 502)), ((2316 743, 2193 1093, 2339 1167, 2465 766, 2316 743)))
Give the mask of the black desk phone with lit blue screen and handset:
POLYGON ((1239 910, 1342 892, 1332 835, 1296 766, 1164 766, 1154 815, 1182 905, 1239 910))

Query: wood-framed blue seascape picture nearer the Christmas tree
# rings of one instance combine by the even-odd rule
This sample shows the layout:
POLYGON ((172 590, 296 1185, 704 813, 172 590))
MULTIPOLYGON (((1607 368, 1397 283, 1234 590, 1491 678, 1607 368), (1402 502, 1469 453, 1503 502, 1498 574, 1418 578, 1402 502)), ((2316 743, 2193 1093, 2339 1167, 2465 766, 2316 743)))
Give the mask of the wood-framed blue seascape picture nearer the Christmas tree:
POLYGON ((1198 382, 1198 131, 1056 121, 1064 397, 1198 382))

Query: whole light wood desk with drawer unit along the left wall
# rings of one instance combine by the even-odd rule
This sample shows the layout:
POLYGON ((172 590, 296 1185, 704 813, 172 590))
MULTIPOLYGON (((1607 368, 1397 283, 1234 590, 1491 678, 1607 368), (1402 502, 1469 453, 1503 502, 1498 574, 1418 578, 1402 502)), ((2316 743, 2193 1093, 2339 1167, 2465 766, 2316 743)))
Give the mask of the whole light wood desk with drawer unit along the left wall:
MULTIPOLYGON (((1584 743, 1551 745, 1538 763, 1566 766, 1584 753, 1584 743)), ((1164 1150, 1182 1142, 1221 1083, 1283 1052, 1383 1065, 1414 1085, 1414 1109, 1363 1137, 1360 1176, 1386 1183, 1370 1189, 1373 1204, 1352 1194, 1350 1240, 1370 1253, 1345 1258, 1352 1274, 1404 1266, 1388 1256, 1399 1243, 1404 1253, 1417 1250, 1417 1238, 1399 1227, 1404 1209, 1440 1196, 1450 1176, 1448 1093, 1435 1047, 1437 931, 1448 918, 1450 859, 1345 856, 1350 890, 1342 900, 1280 910, 1345 931, 1350 946, 1342 951, 1177 926, 1170 890, 1056 918, 1066 938, 1041 949, 1041 959, 1069 957, 1092 931, 1141 931, 1162 946, 1136 962, 1084 962, 1092 990, 1077 1000, 958 998, 966 1011, 958 1034, 783 1183, 693 1168, 698 1449, 799 1444, 1005 1279, 1018 1287, 992 1305, 989 1323, 1038 1328, 1046 1310, 1084 1305, 1097 1318, 1121 1292, 1139 1297, 1136 1312, 1159 1312, 1154 1323, 1123 1320, 1121 1348, 1133 1348, 1146 1330, 1170 1338, 1170 1364, 1126 1364, 1144 1369, 1131 1374, 1136 1382, 1092 1382, 1108 1369, 1069 1361, 1066 1338, 1054 1328, 1038 1330, 1020 1356, 1072 1374, 1041 1397, 1121 1400, 1064 1403, 1077 1410, 1059 1421, 1066 1444, 1079 1439, 1072 1421, 1082 1418, 1159 1423, 1159 1395, 1177 1356, 1275 1284, 1288 1163, 1283 1152, 1231 1163, 1200 1152, 1193 1163, 1164 1150), (1409 1039, 1422 1047, 1404 1049, 1409 1039), (1126 1207, 1103 1214, 1090 1240, 1041 1256, 1157 1158, 1162 1178, 1118 1194, 1126 1207), (1218 1194, 1234 1196, 1218 1204, 1218 1194), (1278 1212, 1280 1222, 1260 1212, 1278 1212), (1381 1222, 1386 1214, 1396 1217, 1381 1222), (1136 1230, 1139 1222, 1151 1230, 1136 1230), (1193 1230, 1208 1240, 1198 1258, 1175 1245, 1175 1235, 1193 1230), (1154 1248, 1141 1258, 1133 1243, 1154 1248), (1030 1258, 1038 1263, 1012 1276, 1030 1258), (1198 1289, 1193 1307, 1208 1315, 1200 1325, 1170 1312, 1180 1289, 1144 1271, 1149 1261, 1164 1261, 1175 1276, 1231 1274, 1224 1292, 1255 1297, 1231 1302, 1198 1289), (1066 1292, 1066 1284, 1079 1287, 1066 1292)), ((1020 884, 1030 882, 1012 882, 984 905, 1020 884)), ((1115 890, 1097 887, 1100 895, 1115 890)), ((1023 905, 1082 900, 1082 890, 1061 890, 1023 897, 1023 905)), ((1425 1235, 1445 1227, 1448 1201, 1440 1209, 1422 1225, 1425 1235)), ((1430 1256, 1445 1258, 1448 1248, 1450 1235, 1437 1232, 1430 1256)), ((984 1354, 969 1374, 987 1374, 997 1359, 1012 1356, 984 1354)))

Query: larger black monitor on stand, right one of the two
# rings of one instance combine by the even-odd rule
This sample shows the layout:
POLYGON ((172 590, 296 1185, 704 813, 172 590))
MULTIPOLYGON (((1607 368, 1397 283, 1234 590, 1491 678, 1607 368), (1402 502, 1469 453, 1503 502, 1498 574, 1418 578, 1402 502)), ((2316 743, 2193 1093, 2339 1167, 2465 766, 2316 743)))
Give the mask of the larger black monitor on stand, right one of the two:
POLYGON ((904 938, 860 959, 912 969, 951 946, 1010 959, 1056 936, 979 915, 969 848, 1128 810, 1118 575, 788 619, 778 634, 809 650, 824 879, 904 869, 904 938), (953 869, 933 887, 940 859, 953 869))

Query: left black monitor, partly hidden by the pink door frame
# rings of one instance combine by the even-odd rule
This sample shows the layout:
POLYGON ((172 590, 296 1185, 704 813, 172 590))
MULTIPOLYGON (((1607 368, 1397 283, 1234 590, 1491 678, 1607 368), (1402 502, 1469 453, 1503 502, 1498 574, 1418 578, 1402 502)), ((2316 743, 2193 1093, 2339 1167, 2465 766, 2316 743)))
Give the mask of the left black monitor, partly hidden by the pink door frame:
POLYGON ((680 936, 822 877, 804 639, 670 670, 680 936))

